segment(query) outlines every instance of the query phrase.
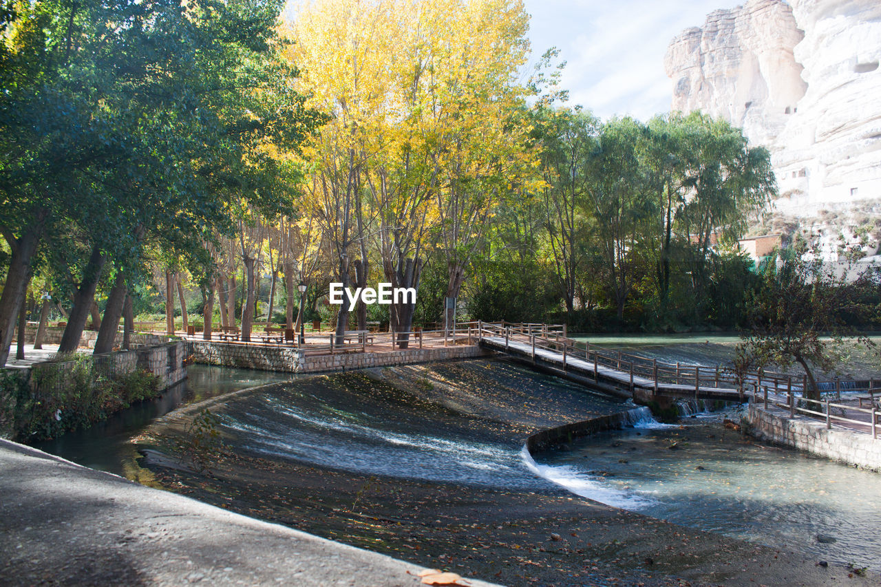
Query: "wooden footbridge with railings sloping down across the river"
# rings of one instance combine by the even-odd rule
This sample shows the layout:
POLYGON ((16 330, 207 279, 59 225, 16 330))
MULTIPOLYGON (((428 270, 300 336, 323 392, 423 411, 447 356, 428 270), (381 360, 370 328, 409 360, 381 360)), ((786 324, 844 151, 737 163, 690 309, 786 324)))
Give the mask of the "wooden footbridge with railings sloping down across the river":
MULTIPOLYGON (((803 378, 787 374, 761 370, 738 374, 732 368, 667 363, 592 346, 567 338, 565 324, 478 322, 470 324, 468 337, 485 348, 629 393, 643 402, 687 398, 743 403, 747 395, 762 390, 791 396, 806 387, 803 378)), ((840 393, 839 385, 836 382, 840 393)))

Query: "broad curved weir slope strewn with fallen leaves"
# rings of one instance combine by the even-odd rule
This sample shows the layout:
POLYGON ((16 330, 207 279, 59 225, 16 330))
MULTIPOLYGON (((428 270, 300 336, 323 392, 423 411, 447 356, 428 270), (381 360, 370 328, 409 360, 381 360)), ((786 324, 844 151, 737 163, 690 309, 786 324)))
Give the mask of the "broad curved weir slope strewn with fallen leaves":
MULTIPOLYGON (((371 410, 386 420, 405 422, 407 430, 421 431, 404 435, 399 427, 381 430, 388 438, 370 442, 379 443, 383 456, 388 439, 398 445, 424 438, 428 447, 455 443, 459 448, 450 455, 462 455, 466 449, 469 455, 492 452, 502 446, 516 457, 531 434, 621 409, 609 405, 597 412, 585 402, 589 392, 577 386, 489 363, 374 370, 360 383, 340 379, 342 375, 316 377, 297 382, 311 382, 298 393, 322 398, 337 417, 341 410, 332 403, 332 393, 354 386, 353 396, 361 398, 360 404, 353 402, 358 413, 329 422, 337 426, 334 436, 351 433, 355 416, 364 424, 371 410), (426 427, 422 416, 434 421, 435 428, 426 427), (438 429, 455 435, 434 439, 438 429)), ((523 467, 522 461, 515 464, 507 453, 503 457, 508 460, 472 459, 468 464, 496 469, 493 474, 506 476, 507 488, 481 479, 460 481, 463 467, 453 462, 447 464, 448 471, 441 462, 427 472, 425 462, 415 463, 411 474, 424 473, 421 479, 372 469, 370 455, 357 451, 331 455, 330 464, 322 465, 318 457, 310 457, 314 462, 289 457, 280 444, 261 449, 255 436, 231 427, 222 429, 229 451, 218 455, 210 474, 181 465, 174 457, 176 439, 204 407, 218 413, 221 421, 239 422, 241 429, 242 419, 250 414, 255 420, 249 421, 267 426, 263 438, 275 430, 264 420, 271 413, 289 411, 298 418, 295 427, 285 428, 289 444, 298 450, 308 445, 322 454, 339 450, 325 444, 327 437, 301 435, 307 420, 318 421, 320 414, 292 404, 292 393, 285 386, 269 386, 169 414, 140 439, 142 465, 162 487, 200 501, 416 564, 509 585, 870 584, 859 576, 848 577, 846 568, 818 567, 818 561, 793 549, 757 546, 591 502, 528 471, 514 471, 523 467), (261 411, 262 403, 273 405, 274 412, 261 411), (357 472, 359 467, 365 472, 357 472)))

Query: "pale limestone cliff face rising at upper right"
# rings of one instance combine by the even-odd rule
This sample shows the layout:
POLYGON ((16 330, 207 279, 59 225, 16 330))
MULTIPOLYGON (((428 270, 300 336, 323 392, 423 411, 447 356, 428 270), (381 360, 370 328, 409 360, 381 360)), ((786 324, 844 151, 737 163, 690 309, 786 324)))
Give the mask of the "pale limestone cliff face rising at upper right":
POLYGON ((777 207, 881 198, 881 2, 749 0, 670 42, 672 109, 700 109, 772 153, 777 207))

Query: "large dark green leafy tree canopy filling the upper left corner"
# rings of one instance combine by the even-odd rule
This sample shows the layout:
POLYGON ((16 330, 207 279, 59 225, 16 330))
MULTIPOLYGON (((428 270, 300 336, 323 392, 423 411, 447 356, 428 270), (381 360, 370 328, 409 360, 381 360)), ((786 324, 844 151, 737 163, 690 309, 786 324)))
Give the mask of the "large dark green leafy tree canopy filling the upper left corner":
POLYGON ((278 59, 276 0, 17 6, 0 23, 0 362, 48 227, 80 225, 121 271, 149 241, 199 249, 231 234, 232 204, 278 212, 297 170, 270 146, 319 121, 278 59))

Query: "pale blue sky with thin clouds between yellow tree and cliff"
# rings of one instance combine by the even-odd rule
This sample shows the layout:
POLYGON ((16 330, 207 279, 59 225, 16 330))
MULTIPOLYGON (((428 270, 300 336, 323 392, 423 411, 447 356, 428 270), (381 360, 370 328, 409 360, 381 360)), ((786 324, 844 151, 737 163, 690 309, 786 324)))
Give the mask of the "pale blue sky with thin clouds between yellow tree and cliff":
POLYGON ((560 86, 569 105, 601 118, 648 120, 670 110, 673 82, 663 69, 670 40, 732 0, 524 0, 535 56, 560 49, 560 86))

